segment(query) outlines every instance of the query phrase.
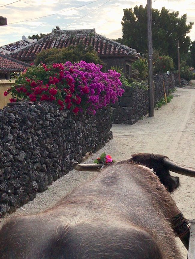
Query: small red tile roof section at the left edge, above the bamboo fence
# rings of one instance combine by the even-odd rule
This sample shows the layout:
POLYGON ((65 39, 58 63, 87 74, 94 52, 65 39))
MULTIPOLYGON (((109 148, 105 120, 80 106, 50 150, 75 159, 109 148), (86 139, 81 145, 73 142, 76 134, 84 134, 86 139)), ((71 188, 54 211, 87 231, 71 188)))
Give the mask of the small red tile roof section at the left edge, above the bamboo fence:
POLYGON ((8 74, 10 72, 24 71, 29 64, 6 55, 0 54, 0 73, 8 74))

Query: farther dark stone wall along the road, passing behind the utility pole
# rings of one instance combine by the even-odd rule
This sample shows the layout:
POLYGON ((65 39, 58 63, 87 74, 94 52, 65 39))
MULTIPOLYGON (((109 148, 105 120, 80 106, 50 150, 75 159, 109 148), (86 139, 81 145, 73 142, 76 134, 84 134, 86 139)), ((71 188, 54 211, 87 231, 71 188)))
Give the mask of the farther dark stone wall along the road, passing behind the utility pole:
MULTIPOLYGON (((163 82, 166 94, 169 89, 174 89, 175 79, 173 74, 156 74, 154 80, 154 103, 164 97, 163 82)), ((124 94, 118 102, 112 105, 112 121, 116 124, 134 124, 148 113, 148 83, 143 87, 124 87, 124 94)))

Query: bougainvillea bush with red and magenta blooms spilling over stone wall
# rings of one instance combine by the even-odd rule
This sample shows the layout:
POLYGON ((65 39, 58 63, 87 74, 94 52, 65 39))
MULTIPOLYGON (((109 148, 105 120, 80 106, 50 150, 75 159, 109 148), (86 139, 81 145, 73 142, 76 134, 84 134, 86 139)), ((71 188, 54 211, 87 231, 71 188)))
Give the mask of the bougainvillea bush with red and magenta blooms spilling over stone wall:
POLYGON ((51 101, 59 109, 70 109, 75 114, 87 110, 95 114, 97 109, 115 103, 124 90, 121 89, 120 73, 101 71, 101 65, 81 61, 72 64, 31 65, 11 88, 10 102, 18 100, 51 101))

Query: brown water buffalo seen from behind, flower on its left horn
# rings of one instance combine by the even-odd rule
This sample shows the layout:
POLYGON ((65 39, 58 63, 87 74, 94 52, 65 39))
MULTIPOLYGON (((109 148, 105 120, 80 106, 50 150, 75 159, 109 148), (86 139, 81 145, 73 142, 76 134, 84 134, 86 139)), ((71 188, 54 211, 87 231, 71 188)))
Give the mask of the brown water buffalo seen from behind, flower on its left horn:
MULTIPOLYGON (((152 155, 146 167, 135 157, 101 169, 46 211, 8 220, 0 230, 0 258, 181 258, 172 230, 180 211, 166 190, 169 185, 165 188, 149 167, 156 158, 165 173, 195 177, 195 170, 160 155, 152 155)), ((98 167, 74 164, 78 170, 98 167)))

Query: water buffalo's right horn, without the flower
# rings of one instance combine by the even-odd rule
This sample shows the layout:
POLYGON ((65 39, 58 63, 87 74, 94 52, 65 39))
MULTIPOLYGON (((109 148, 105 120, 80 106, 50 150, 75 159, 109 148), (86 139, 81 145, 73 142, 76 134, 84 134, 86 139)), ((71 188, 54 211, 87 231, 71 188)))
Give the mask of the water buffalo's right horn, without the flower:
POLYGON ((165 157, 163 159, 164 164, 167 166, 167 168, 175 173, 179 173, 179 174, 183 174, 186 176, 191 176, 191 177, 195 177, 195 169, 191 168, 191 167, 187 167, 185 165, 182 164, 178 164, 170 159, 168 159, 167 157, 165 157))

